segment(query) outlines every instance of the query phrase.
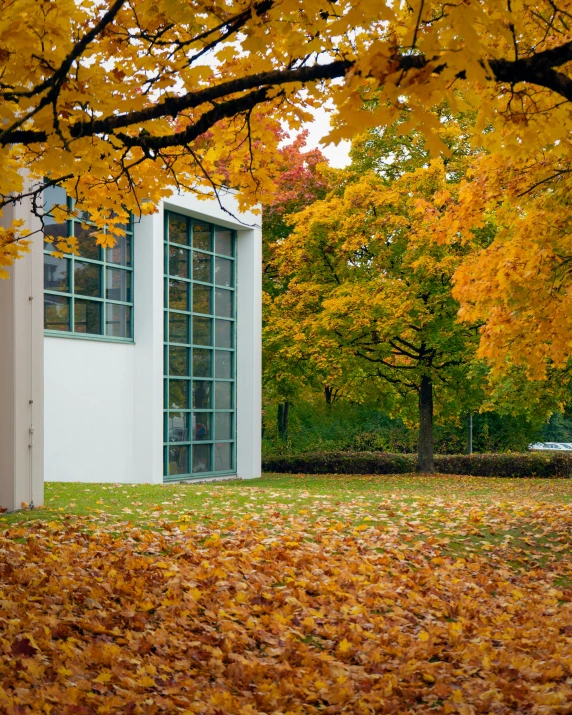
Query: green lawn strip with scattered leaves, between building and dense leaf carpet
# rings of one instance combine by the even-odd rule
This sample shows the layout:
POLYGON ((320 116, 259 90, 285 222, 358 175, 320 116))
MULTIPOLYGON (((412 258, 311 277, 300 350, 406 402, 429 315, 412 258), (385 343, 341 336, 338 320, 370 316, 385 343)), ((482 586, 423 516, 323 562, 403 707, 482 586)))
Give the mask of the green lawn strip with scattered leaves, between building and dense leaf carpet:
POLYGON ((419 475, 279 475, 252 481, 171 485, 46 484, 45 506, 4 515, 1 525, 34 521, 172 529, 237 519, 276 528, 296 520, 348 529, 375 526, 403 543, 439 538, 447 554, 494 547, 511 563, 568 556, 572 480, 419 475), (510 558, 508 552, 510 551, 510 558))

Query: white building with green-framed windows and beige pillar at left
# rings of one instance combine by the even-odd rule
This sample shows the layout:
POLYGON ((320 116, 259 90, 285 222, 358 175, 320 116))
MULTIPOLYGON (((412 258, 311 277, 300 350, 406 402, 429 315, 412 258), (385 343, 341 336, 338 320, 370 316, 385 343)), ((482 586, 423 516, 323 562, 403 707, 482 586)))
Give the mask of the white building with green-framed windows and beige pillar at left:
POLYGON ((40 505, 44 479, 260 476, 260 217, 223 205, 173 195, 107 250, 48 223, 81 255, 36 234, 0 280, 0 505, 40 505))

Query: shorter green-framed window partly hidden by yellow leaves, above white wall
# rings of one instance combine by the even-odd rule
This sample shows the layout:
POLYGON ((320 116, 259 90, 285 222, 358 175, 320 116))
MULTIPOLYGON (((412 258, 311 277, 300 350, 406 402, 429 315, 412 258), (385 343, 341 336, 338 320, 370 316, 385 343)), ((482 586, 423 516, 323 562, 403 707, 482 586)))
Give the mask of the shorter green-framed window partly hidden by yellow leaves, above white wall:
POLYGON ((65 223, 55 206, 73 208, 60 187, 44 191, 44 329, 47 334, 133 339, 133 219, 113 248, 95 242, 95 226, 82 214, 65 223), (52 255, 54 240, 77 239, 79 255, 52 255))

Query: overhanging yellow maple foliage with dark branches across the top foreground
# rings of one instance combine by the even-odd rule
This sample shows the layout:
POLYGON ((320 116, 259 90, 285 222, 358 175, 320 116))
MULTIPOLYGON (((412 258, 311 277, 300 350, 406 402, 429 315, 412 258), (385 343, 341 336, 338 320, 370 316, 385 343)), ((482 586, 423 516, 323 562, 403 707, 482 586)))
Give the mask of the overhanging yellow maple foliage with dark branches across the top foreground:
MULTIPOLYGON (((505 155, 557 145, 569 156, 571 10, 569 0, 2 0, 0 207, 28 196, 41 214, 43 187, 61 185, 108 225, 104 242, 125 211, 153 210, 172 187, 230 181, 243 202, 264 201, 279 123, 299 128, 326 101, 334 139, 406 110, 438 148, 431 110, 446 100, 474 109, 505 155)), ((2 229, 3 265, 21 238, 19 225, 2 229)))

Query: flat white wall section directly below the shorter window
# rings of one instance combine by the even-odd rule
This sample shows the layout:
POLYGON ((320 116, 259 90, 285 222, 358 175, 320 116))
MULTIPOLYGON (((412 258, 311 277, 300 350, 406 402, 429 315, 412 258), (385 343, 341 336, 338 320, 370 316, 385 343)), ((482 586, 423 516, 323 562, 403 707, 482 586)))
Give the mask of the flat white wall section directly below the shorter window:
POLYGON ((134 469, 134 348, 45 338, 47 481, 149 481, 134 469))

